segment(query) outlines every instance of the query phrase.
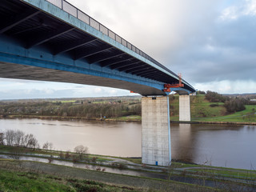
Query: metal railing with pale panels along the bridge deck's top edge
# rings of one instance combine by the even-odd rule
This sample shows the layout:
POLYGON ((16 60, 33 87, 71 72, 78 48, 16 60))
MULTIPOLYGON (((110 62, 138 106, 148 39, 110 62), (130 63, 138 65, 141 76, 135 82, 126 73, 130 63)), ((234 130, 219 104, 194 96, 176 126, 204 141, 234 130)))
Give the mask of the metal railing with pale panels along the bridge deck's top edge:
POLYGON ((91 18, 89 15, 82 12, 75 6, 72 6, 69 2, 65 0, 46 0, 54 4, 54 6, 58 6, 62 10, 66 11, 69 14, 72 14, 74 17, 78 18, 82 22, 86 22, 88 25, 94 27, 94 29, 101 31, 103 34, 106 34, 108 37, 114 39, 116 42, 121 43, 123 46, 126 46, 128 49, 134 51, 135 53, 141 55, 143 58, 148 59, 150 62, 162 67, 163 69, 167 70, 169 73, 173 74, 175 77, 178 78, 177 74, 174 74, 171 70, 163 66, 160 62, 151 58, 148 54, 144 53, 142 50, 139 50, 136 46, 132 45, 130 42, 126 41, 124 38, 121 38, 118 34, 115 34, 112 30, 108 29, 106 26, 103 26, 100 22, 97 22, 94 18, 91 18))

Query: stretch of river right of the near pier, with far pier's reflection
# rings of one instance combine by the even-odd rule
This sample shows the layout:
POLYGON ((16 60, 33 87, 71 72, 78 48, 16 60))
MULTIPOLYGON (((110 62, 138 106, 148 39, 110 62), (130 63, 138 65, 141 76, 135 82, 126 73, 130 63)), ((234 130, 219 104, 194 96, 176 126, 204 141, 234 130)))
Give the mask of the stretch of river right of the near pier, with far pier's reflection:
POLYGON ((256 166, 256 126, 172 124, 172 158, 212 166, 256 166))

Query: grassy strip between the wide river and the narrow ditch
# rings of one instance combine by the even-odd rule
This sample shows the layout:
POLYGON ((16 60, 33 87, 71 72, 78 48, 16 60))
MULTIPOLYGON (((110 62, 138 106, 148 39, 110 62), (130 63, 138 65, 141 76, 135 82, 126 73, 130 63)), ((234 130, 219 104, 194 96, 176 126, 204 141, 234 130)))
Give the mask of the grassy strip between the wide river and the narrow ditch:
MULTIPOLYGON (((5 154, 6 152, 11 153, 11 154, 16 154, 18 152, 18 156, 37 156, 40 158, 48 158, 50 155, 53 155, 54 157, 57 157, 56 159, 61 159, 62 161, 72 161, 72 158, 66 159, 62 158, 61 154, 65 154, 66 151, 58 151, 58 150, 41 150, 41 149, 30 149, 30 148, 25 148, 25 147, 16 147, 16 146, 1 146, 0 145, 0 154, 5 154), (40 155, 40 156, 39 156, 40 155), (42 155, 42 156, 41 156, 42 155)), ((74 152, 69 152, 70 155, 78 155, 74 152)), ((12 155, 10 155, 12 157, 12 155)), ((92 162, 92 159, 94 158, 93 162, 98 162, 98 165, 101 164, 101 162, 110 162, 113 160, 115 162, 118 162, 118 159, 121 160, 121 163, 124 165, 122 169, 127 169, 126 164, 129 164, 130 162, 136 163, 137 166, 142 166, 145 167, 146 169, 149 168, 149 166, 143 165, 142 164, 142 159, 141 158, 118 158, 114 156, 106 156, 106 155, 98 155, 98 154, 86 154, 83 155, 82 159, 86 159, 86 163, 92 162), (126 160, 127 162, 122 162, 123 160, 126 160)), ((54 158, 53 158, 54 159, 54 158)), ((79 162, 76 161, 76 162, 79 162)), ((85 163, 85 162, 83 162, 85 163)), ((120 162, 118 162, 120 163, 120 162)), ((163 167, 158 167, 158 166, 152 166, 154 167, 154 170, 162 170, 162 172, 166 172, 163 167)), ((233 168, 226 168, 226 167, 216 167, 216 166, 205 166, 205 165, 198 165, 198 164, 190 164, 188 162, 176 162, 172 161, 171 166, 169 169, 173 170, 179 170, 179 169, 184 169, 188 173, 195 174, 198 171, 202 171, 202 169, 210 174, 220 174, 222 177, 231 177, 231 178, 245 178, 249 177, 255 179, 256 178, 256 171, 255 170, 242 170, 242 169, 233 169, 233 168)), ((139 170, 140 171, 140 170, 139 170)))

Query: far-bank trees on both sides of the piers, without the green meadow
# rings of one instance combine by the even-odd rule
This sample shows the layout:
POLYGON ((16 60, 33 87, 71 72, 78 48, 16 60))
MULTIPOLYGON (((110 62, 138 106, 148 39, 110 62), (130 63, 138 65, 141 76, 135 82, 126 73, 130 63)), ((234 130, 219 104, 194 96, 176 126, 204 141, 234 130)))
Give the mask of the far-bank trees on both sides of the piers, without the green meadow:
MULTIPOLYGON (((228 114, 245 110, 245 105, 255 105, 249 98, 229 97, 213 91, 198 91, 197 94, 204 94, 210 106, 224 106, 228 114), (223 104, 224 103, 224 104, 223 104)), ((196 96, 192 96, 196 97, 196 96)), ((170 105, 176 97, 170 96, 170 105)), ((174 111, 174 106, 170 106, 174 111)), ((176 109, 176 108, 175 108, 176 109)), ((176 111, 178 113, 178 111, 176 111)), ((175 112, 175 113, 176 113, 175 112)), ((50 116, 67 118, 119 118, 128 115, 141 115, 142 105, 139 97, 116 97, 116 98, 84 98, 74 101, 10 101, 0 102, 0 116, 10 115, 22 116, 50 116)))

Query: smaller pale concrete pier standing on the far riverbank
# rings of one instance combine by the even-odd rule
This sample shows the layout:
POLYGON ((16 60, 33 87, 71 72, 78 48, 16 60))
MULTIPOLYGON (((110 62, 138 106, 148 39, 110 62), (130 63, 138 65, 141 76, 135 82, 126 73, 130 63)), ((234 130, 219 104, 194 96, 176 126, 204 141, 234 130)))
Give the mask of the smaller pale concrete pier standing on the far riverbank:
POLYGON ((179 95, 179 121, 190 120, 190 95, 179 95))

